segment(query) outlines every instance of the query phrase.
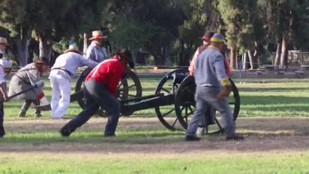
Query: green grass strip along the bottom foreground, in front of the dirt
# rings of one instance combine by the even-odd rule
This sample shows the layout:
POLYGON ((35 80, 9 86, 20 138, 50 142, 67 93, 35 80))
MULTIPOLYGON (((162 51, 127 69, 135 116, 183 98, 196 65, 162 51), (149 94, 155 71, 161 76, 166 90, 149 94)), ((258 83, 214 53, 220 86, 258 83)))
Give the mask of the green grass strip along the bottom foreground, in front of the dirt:
POLYGON ((169 157, 83 153, 1 156, 2 173, 309 173, 308 152, 169 157))

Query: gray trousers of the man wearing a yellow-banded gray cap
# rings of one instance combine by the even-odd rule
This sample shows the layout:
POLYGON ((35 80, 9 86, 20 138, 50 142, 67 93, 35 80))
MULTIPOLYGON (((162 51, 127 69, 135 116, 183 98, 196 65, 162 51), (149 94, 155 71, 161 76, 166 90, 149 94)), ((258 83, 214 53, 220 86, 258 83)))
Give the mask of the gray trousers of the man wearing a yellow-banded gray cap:
POLYGON ((199 123, 202 121, 209 106, 219 110, 224 120, 224 131, 227 137, 235 135, 235 121, 228 102, 228 98, 218 99, 220 89, 207 86, 196 86, 196 110, 188 124, 187 135, 195 136, 199 123), (207 107, 208 106, 208 107, 207 107))

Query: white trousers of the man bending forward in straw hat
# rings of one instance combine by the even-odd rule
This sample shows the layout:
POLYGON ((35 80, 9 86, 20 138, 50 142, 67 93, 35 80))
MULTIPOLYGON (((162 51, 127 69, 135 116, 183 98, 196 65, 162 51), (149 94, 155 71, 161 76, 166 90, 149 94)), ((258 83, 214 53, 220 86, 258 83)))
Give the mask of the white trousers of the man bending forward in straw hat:
POLYGON ((60 119, 66 114, 70 104, 71 82, 61 75, 50 76, 50 82, 52 88, 51 117, 52 119, 60 119))

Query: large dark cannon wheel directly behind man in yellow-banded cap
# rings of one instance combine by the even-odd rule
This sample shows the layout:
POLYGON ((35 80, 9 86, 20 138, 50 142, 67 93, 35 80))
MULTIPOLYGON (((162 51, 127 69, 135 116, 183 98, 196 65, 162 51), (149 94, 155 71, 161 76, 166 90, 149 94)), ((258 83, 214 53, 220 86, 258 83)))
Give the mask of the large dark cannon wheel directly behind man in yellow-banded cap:
MULTIPOLYGON (((240 109, 240 97, 238 93, 238 89, 235 85, 235 83, 230 79, 230 82, 232 84, 232 92, 233 94, 230 94, 229 96, 229 104, 232 106, 233 109, 233 118, 234 121, 236 121, 239 109, 240 109)), ((175 112, 177 115, 177 118, 179 120, 179 123, 182 125, 184 129, 188 128, 188 120, 189 116, 194 112, 195 110, 195 89, 196 84, 194 82, 193 76, 186 77, 181 84, 179 85, 179 88, 175 95, 175 112)), ((207 115, 205 115, 207 117, 207 115)), ((215 122, 217 123, 218 128, 217 129, 209 129, 209 125, 207 126, 207 132, 208 134, 212 133, 220 133, 223 132, 223 127, 217 120, 215 119, 215 122)), ((211 127, 212 128, 212 127, 211 127)))

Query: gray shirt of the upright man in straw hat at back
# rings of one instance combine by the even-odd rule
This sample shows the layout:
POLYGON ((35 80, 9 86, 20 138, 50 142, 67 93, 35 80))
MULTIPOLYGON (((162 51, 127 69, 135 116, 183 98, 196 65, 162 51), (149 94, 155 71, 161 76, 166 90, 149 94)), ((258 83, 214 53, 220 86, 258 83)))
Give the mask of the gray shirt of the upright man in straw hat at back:
POLYGON ((87 48, 86 57, 87 59, 100 63, 107 59, 107 53, 99 45, 92 41, 87 48))

